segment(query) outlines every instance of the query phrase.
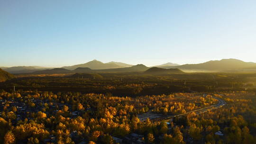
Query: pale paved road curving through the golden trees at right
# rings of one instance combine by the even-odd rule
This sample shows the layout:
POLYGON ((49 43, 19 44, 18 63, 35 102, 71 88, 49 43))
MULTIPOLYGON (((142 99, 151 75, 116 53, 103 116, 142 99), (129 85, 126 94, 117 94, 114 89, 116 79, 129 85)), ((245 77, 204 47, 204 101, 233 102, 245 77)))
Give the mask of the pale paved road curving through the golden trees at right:
MULTIPOLYGON (((204 94, 206 95, 206 94, 204 94)), ((217 108, 221 108, 223 107, 224 105, 226 105, 226 102, 223 100, 223 99, 220 99, 218 97, 214 97, 212 96, 212 98, 214 99, 217 99, 219 100, 219 103, 216 104, 216 105, 212 105, 210 107, 206 107, 206 108, 201 108, 201 109, 196 109, 196 110, 193 110, 193 111, 190 111, 190 112, 187 112, 187 113, 184 113, 184 114, 180 114, 180 115, 173 115, 173 116, 164 116, 164 117, 157 117, 157 118, 152 118, 150 119, 152 122, 157 122, 157 121, 162 121, 162 120, 168 120, 168 119, 172 119, 174 117, 181 117, 183 115, 187 115, 187 114, 190 114, 192 112, 194 112, 196 115, 199 115, 201 113, 205 113, 205 112, 208 112, 208 111, 211 111, 213 109, 217 109, 217 108)), ((148 114, 150 114, 151 112, 149 112, 148 114)), ((145 119, 141 119, 141 121, 145 121, 145 119)))

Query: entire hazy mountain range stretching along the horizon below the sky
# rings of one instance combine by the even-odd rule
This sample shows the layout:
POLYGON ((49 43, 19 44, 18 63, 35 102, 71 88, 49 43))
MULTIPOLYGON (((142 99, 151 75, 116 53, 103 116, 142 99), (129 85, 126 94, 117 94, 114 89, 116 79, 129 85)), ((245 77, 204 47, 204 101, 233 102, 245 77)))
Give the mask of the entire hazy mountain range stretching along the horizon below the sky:
MULTIPOLYGON (((208 61, 198 64, 165 63, 153 67, 164 69, 180 69, 184 72, 240 72, 256 71, 256 63, 244 62, 237 59, 222 59, 217 61, 208 61)), ((120 62, 102 63, 97 60, 88 63, 64 66, 62 68, 46 68, 39 66, 15 66, 2 67, 4 71, 10 73, 52 73, 52 72, 144 72, 150 67, 143 64, 131 65, 120 62)))

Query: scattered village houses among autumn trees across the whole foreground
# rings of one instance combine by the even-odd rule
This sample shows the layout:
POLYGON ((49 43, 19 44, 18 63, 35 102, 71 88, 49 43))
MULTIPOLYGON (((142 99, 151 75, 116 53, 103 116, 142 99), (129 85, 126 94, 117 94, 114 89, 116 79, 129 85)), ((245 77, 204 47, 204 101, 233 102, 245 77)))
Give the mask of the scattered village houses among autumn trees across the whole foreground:
MULTIPOLYGON (((12 124, 16 126, 19 121, 24 121, 25 119, 31 120, 35 117, 31 117, 32 115, 35 115, 37 113, 45 113, 47 116, 54 116, 56 115, 60 110, 66 110, 68 111, 67 117, 69 118, 75 118, 75 117, 81 117, 82 113, 85 111, 92 111, 91 108, 85 108, 83 110, 77 110, 73 107, 73 105, 69 103, 61 103, 61 102, 55 102, 54 100, 48 100, 48 99, 37 99, 37 98, 27 98, 27 97, 19 97, 19 98, 9 98, 9 99, 0 99, 0 111, 8 111, 8 113, 1 113, 0 117, 9 117, 12 119, 12 124), (24 100, 26 99, 26 100, 24 100), (6 115, 6 116, 4 116, 6 115)), ((148 114, 142 114, 142 115, 148 115, 148 114)), ((159 118, 160 115, 157 115, 159 118)), ((145 117, 145 116, 144 116, 145 117)), ((168 126, 168 131, 172 131, 172 128, 175 127, 175 123, 173 123, 173 119, 169 119, 168 122, 165 122, 168 126), (174 126, 172 126, 174 125, 174 126)), ((144 119, 143 119, 144 120, 144 119)), ((221 131, 218 131, 215 133, 215 135, 223 136, 221 131)), ((78 135, 76 131, 72 131, 69 135, 74 142, 76 142, 76 139, 78 139, 78 135)), ((111 136, 113 140, 117 144, 145 144, 144 136, 139 135, 136 133, 130 133, 122 138, 111 136)), ((163 135, 159 136, 159 139, 162 139, 163 135)), ((184 139, 186 143, 193 143, 192 137, 188 137, 187 139, 184 139)), ((55 143, 56 142, 56 136, 55 135, 49 135, 48 138, 44 139, 43 141, 45 144, 47 143, 55 143)), ((77 142, 77 144, 87 144, 88 140, 82 139, 81 142, 77 142)), ((19 144, 22 144, 20 142, 19 144)))

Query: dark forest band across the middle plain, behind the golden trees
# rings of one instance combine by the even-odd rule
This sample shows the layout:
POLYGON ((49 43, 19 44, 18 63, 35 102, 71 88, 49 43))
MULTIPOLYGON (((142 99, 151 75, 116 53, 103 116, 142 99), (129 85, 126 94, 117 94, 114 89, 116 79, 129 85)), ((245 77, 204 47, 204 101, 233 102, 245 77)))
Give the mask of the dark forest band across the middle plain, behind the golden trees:
MULTIPOLYGON (((214 91, 241 91, 256 90, 252 78, 238 76, 213 76, 210 78, 196 77, 187 79, 177 79, 173 76, 140 76, 140 75, 120 75, 102 74, 103 78, 96 79, 97 74, 78 77, 20 77, 9 81, 1 82, 0 89, 11 92, 13 86, 20 90, 39 90, 39 91, 79 91, 81 93, 112 93, 116 96, 141 96, 170 94, 173 92, 214 92, 214 91), (213 77, 217 77, 213 79, 213 77), (226 77, 230 79, 226 79, 226 77)), ((191 74, 195 75, 195 74, 191 74)), ((206 75, 206 74, 204 74, 206 75)), ((231 74, 230 74, 231 75, 231 74)), ((176 75, 175 75, 176 76, 176 75)), ((201 76, 201 75, 200 75, 201 76)), ((179 75, 180 77, 180 75, 179 75)), ((190 78, 190 77, 188 77, 190 78)))

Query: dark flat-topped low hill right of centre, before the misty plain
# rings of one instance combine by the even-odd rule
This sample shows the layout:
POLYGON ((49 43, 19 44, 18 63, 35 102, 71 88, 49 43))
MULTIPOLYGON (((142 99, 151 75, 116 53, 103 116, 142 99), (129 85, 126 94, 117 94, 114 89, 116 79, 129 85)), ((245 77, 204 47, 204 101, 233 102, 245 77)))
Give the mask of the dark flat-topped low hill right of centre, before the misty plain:
POLYGON ((170 73, 184 73, 180 69, 164 69, 164 68, 157 68, 153 67, 146 70, 144 73, 146 74, 170 74, 170 73))

